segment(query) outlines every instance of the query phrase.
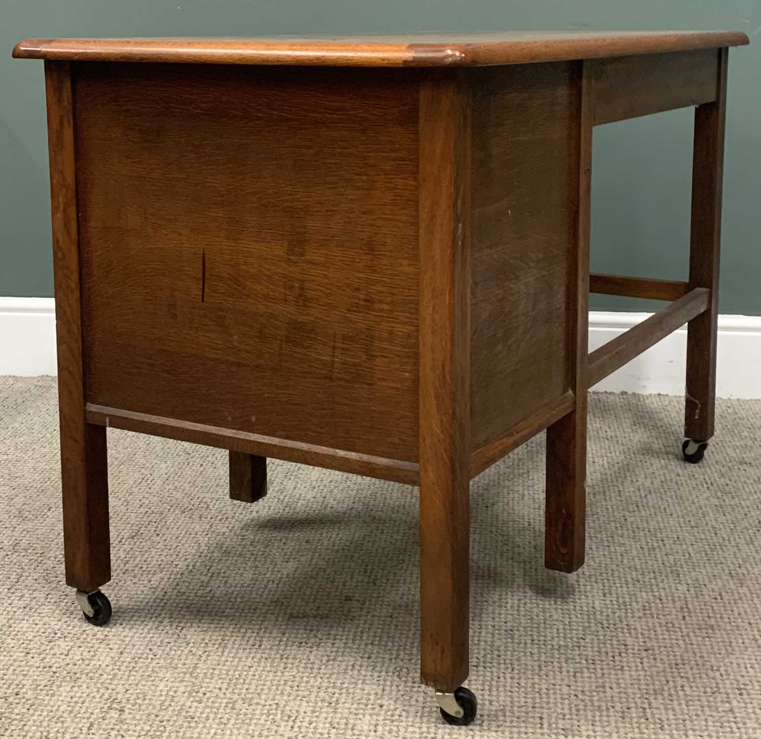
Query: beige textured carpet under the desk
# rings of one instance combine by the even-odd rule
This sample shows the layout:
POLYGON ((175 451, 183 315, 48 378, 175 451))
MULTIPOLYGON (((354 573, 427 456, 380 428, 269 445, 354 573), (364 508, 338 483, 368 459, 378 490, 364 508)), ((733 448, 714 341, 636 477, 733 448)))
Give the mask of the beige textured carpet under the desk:
POLYGON ((761 402, 591 398, 587 565, 542 566, 543 437, 473 483, 469 728, 418 683, 416 491, 110 431, 114 616, 62 575, 56 386, 0 379, 0 736, 761 737, 761 402))

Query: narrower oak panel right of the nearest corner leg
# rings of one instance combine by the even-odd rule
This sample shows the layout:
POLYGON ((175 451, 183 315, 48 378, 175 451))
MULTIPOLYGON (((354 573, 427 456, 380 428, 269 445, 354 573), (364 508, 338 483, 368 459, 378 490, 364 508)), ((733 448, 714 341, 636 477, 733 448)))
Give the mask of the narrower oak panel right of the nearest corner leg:
MULTIPOLYGON (((570 387, 572 63, 473 71, 471 449, 570 387)), ((577 125, 578 128, 578 125, 577 125)))

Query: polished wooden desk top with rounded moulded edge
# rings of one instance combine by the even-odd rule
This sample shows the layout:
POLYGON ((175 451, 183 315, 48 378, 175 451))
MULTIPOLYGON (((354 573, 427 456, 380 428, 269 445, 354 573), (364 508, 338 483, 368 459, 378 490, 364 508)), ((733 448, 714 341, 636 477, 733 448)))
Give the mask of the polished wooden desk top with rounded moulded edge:
POLYGON ((749 43, 740 31, 415 33, 301 38, 27 39, 13 56, 89 62, 435 67, 552 62, 749 43))

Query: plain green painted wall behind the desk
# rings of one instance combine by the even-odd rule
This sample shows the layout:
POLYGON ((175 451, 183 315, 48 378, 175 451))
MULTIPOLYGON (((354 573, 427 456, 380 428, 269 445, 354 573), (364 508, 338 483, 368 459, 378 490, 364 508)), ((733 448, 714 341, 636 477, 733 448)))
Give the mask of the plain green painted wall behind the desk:
MULTIPOLYGON (((3 0, 0 295, 53 294, 43 65, 11 59, 24 36, 611 28, 757 34, 730 53, 721 312, 761 315, 761 0, 3 0)), ((692 128, 688 109, 596 129, 595 271, 686 276, 692 128)), ((593 296, 592 307, 653 305, 593 296)))

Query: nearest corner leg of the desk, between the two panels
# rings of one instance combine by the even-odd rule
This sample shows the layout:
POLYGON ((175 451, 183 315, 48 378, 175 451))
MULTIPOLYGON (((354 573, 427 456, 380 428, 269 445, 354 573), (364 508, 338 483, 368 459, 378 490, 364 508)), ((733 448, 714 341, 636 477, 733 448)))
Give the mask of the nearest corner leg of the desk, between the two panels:
POLYGON ((452 691, 469 669, 470 86, 420 86, 420 672, 452 691))

